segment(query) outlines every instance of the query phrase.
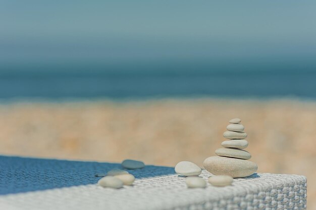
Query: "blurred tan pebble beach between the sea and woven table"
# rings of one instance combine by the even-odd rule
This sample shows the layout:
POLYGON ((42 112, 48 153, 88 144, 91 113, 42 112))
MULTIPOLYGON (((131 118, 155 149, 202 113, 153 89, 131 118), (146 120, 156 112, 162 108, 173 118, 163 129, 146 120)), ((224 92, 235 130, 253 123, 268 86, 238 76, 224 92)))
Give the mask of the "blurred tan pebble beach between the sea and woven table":
POLYGON ((316 102, 295 99, 157 99, 3 102, 0 153, 41 158, 199 166, 224 141, 231 118, 247 132, 258 172, 307 176, 316 208, 316 102))

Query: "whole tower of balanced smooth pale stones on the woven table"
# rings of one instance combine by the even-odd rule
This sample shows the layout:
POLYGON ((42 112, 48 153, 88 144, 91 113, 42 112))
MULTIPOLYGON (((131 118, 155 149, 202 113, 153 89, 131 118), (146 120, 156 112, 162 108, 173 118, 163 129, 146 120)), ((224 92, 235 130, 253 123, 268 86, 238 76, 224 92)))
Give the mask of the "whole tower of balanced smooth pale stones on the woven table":
POLYGON ((229 139, 222 143, 224 148, 217 149, 216 155, 204 160, 204 168, 214 175, 229 175, 233 178, 246 177, 255 173, 257 165, 251 161, 250 153, 245 149, 248 142, 245 140, 247 133, 244 132, 244 126, 240 124, 239 118, 231 119, 224 132, 224 137, 229 139))

